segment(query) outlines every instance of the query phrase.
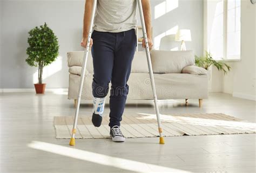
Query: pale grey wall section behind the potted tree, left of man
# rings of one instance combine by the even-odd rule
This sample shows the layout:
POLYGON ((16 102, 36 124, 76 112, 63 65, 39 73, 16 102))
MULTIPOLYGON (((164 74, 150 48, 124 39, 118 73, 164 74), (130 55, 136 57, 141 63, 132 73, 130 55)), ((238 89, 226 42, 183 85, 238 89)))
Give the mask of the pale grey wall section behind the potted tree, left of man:
MULTIPOLYGON (((44 69, 47 88, 68 88, 66 52, 81 51, 83 1, 3 1, 2 86, 33 88, 37 68, 25 62, 28 32, 46 22, 59 40, 59 58, 44 69)), ((37 81, 35 81, 36 83, 37 81)))

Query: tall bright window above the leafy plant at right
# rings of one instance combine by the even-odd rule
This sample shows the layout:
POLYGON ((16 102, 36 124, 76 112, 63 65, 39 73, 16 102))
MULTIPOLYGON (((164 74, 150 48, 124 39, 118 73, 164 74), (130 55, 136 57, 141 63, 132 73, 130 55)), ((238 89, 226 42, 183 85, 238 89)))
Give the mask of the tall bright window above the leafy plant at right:
POLYGON ((207 1, 207 45, 214 59, 240 59, 241 0, 207 1))

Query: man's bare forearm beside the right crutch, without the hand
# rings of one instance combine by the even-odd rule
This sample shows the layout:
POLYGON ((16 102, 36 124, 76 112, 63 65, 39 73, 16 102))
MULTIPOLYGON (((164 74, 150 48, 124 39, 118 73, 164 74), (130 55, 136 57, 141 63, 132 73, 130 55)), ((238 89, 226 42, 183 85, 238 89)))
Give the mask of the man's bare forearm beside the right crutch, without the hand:
POLYGON ((150 0, 142 0, 143 15, 146 25, 147 37, 152 39, 151 35, 151 8, 150 0))

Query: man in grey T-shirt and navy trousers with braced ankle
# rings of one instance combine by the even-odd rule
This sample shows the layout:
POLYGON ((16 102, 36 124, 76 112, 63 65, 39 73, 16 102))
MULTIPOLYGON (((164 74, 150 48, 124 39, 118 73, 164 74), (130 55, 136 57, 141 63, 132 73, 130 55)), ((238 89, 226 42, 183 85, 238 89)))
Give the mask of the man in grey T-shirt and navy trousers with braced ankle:
MULTIPOLYGON (((86 47, 92 6, 94 0, 86 0, 84 30, 81 46, 86 47)), ((96 1, 96 0, 95 0, 96 1)), ((142 0, 143 13, 149 47, 151 48, 151 9, 149 0, 142 0)), ((131 64, 137 46, 135 28, 137 25, 137 0, 98 0, 90 40, 93 57, 93 114, 92 123, 99 127, 105 105, 105 97, 110 93, 110 135, 112 141, 123 142, 120 130, 131 73, 131 64)), ((145 48, 145 41, 143 40, 145 48)), ((146 66, 146 64, 145 64, 146 66)))

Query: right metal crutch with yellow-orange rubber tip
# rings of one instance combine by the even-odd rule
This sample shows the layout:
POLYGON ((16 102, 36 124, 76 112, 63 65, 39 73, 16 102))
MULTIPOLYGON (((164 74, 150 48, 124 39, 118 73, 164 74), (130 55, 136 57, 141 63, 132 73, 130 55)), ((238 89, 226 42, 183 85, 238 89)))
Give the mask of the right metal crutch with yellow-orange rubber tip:
POLYGON ((137 2, 139 7, 140 21, 142 23, 143 37, 146 44, 145 50, 147 55, 147 66, 149 66, 150 80, 151 80, 151 86, 152 86, 152 91, 154 96, 154 108, 156 109, 156 114, 157 114, 158 132, 160 137, 159 143, 164 144, 163 129, 161 128, 160 113, 159 113, 158 103, 157 103, 157 92, 156 92, 156 86, 154 85, 154 76, 153 76, 152 63, 151 63, 151 57, 150 57, 149 42, 147 42, 147 32, 146 32, 145 20, 144 20, 143 9, 142 9, 142 1, 137 0, 137 2))

